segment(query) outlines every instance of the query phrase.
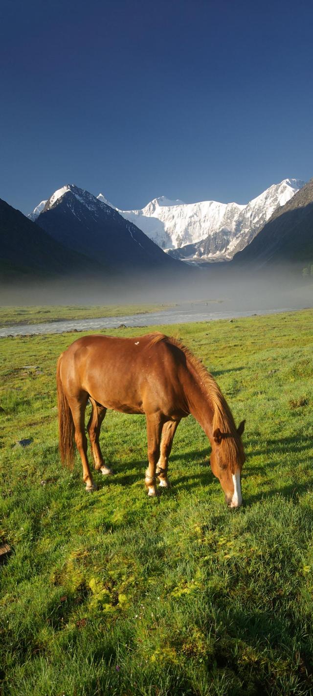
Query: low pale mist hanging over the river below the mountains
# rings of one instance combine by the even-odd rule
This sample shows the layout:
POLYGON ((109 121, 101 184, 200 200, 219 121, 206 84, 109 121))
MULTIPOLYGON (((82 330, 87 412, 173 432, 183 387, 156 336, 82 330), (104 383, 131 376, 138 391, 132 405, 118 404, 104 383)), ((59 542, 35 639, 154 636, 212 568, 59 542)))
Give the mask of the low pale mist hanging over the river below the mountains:
POLYGON ((2 306, 109 305, 129 303, 186 303, 206 301, 216 311, 265 311, 312 306, 313 278, 292 265, 247 272, 228 264, 186 267, 171 278, 154 274, 121 274, 104 280, 63 278, 7 284, 1 287, 2 306), (223 306, 222 304, 223 303, 223 306))

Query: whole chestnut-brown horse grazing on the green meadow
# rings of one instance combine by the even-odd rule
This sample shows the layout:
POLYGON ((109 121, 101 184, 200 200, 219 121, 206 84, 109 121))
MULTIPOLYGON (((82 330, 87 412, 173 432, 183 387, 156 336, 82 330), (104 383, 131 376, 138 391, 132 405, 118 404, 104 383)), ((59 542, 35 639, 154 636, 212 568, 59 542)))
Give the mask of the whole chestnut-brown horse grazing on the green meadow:
POLYGON ((145 413, 149 461, 145 485, 148 495, 155 496, 157 477, 160 486, 168 487, 168 457, 177 425, 192 413, 211 442, 211 469, 220 480, 227 505, 241 505, 245 422, 236 429, 214 378, 175 338, 162 333, 138 338, 79 338, 58 359, 57 386, 61 459, 73 465, 75 440, 87 491, 96 489, 85 434, 89 399, 93 411, 87 429, 96 470, 112 473, 99 447, 106 409, 145 413))

